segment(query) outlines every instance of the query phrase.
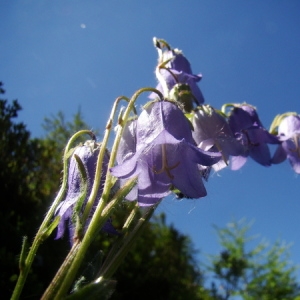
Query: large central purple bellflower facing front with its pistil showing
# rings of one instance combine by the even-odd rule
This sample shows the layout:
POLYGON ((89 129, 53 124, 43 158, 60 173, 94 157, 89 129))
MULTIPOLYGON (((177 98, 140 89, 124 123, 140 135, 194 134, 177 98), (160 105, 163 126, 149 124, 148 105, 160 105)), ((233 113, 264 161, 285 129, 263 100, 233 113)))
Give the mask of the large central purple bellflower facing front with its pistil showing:
POLYGON ((177 105, 148 104, 138 117, 136 139, 136 153, 111 172, 120 179, 138 176, 134 198, 140 206, 157 203, 172 188, 189 198, 206 195, 198 164, 212 165, 220 154, 196 147, 191 124, 177 105))

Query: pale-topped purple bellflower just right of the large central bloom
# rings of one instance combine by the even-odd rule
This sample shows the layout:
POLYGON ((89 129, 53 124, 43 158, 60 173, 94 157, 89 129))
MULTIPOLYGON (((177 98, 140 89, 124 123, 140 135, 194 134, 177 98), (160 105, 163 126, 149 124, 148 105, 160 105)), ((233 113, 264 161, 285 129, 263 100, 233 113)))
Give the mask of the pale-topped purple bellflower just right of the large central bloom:
POLYGON ((211 106, 198 107, 191 115, 193 138, 199 148, 205 151, 220 151, 223 160, 213 166, 220 170, 228 165, 229 156, 242 155, 244 146, 237 141, 227 120, 211 106))

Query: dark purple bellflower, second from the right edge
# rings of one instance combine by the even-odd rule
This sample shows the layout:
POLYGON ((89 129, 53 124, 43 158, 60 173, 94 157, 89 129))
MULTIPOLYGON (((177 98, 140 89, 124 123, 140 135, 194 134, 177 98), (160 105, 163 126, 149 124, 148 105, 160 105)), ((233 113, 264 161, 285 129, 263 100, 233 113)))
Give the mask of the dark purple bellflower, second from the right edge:
POLYGON ((263 166, 270 166, 271 154, 268 144, 278 144, 279 141, 263 127, 255 108, 248 104, 235 105, 228 123, 246 149, 244 154, 232 157, 231 168, 241 168, 248 156, 263 166))

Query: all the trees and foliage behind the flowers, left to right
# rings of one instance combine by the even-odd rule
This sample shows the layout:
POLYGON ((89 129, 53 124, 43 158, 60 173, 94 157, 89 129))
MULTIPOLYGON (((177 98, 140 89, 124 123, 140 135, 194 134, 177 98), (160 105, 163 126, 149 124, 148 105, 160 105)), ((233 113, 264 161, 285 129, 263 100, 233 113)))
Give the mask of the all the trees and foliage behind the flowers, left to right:
MULTIPOLYGON (((0 95, 4 94, 0 83, 0 95)), ((69 137, 89 128, 81 112, 66 121, 64 114, 45 118, 44 136, 32 138, 17 119, 21 106, 0 99, 0 290, 9 299, 19 273, 22 238, 33 239, 53 200, 61 179, 62 150, 69 137)), ((130 204, 116 210, 113 224, 120 227, 130 204)), ((249 225, 233 222, 216 228, 222 251, 207 265, 197 261, 197 251, 186 235, 168 225, 164 215, 148 224, 118 272, 112 299, 296 299, 300 295, 295 266, 288 247, 278 241, 260 242, 249 249, 249 225), (232 298, 233 299, 233 298, 232 298)), ((29 275, 23 299, 39 299, 68 252, 68 239, 42 245, 29 275)), ((115 237, 99 234, 79 274, 87 282, 115 237)), ((253 244, 253 242, 251 242, 253 244)), ((79 277, 80 277, 79 276, 79 277)), ((299 298, 300 299, 300 298, 299 298)))

